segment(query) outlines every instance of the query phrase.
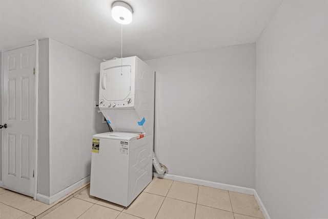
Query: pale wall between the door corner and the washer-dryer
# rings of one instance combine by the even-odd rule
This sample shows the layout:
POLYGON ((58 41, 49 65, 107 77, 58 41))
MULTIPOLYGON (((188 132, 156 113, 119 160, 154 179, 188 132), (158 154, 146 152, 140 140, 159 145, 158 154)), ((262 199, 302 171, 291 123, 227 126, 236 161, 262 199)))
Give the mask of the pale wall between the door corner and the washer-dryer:
POLYGON ((45 41, 49 41, 49 101, 43 99, 40 105, 49 104, 49 111, 39 116, 49 119, 49 137, 44 136, 44 142, 49 141, 50 185, 49 195, 44 195, 52 196, 90 175, 92 135, 108 131, 108 127, 94 108, 101 61, 53 39, 45 41))

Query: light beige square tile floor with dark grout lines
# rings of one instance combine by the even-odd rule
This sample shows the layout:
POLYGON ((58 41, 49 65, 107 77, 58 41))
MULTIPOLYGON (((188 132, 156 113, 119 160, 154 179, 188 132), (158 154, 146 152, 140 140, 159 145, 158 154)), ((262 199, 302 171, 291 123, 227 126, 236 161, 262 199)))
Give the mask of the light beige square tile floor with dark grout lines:
POLYGON ((129 207, 89 195, 89 184, 46 205, 0 188, 6 219, 264 219, 254 195, 153 178, 129 207))

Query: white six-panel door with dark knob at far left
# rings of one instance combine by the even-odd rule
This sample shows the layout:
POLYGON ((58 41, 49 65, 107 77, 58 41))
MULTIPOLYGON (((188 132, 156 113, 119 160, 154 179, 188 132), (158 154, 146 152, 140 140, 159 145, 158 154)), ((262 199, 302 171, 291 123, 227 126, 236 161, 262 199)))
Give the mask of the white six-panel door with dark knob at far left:
POLYGON ((35 45, 3 54, 2 128, 4 188, 35 192, 35 45))

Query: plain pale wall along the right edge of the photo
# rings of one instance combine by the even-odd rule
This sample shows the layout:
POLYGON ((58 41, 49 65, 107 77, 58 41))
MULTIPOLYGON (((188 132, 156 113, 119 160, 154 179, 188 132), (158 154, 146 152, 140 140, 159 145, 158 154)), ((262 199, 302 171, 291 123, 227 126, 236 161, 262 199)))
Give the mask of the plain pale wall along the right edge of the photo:
POLYGON ((272 219, 328 218, 327 14, 285 0, 256 42, 256 191, 272 219))

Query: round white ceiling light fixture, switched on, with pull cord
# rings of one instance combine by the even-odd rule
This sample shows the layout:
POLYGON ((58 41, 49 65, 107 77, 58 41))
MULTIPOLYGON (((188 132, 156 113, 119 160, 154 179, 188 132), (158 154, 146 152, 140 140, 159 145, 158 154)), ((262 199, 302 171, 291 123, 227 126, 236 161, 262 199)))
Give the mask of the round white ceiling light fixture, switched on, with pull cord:
POLYGON ((125 2, 117 1, 112 4, 112 17, 119 24, 130 24, 132 13, 131 6, 125 2))

